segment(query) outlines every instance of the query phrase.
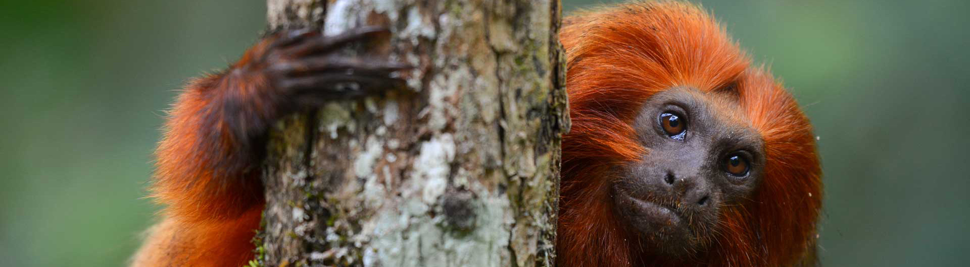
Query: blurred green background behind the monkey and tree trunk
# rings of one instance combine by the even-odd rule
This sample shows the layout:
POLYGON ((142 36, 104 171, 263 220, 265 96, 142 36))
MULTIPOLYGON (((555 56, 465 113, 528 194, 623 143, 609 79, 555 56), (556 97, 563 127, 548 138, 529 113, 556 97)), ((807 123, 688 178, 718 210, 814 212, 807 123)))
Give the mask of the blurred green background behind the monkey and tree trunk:
MULTIPOLYGON (((824 266, 970 262, 970 1, 701 2, 816 125, 824 266)), ((253 44, 264 13, 2 1, 0 266, 124 265, 157 210, 142 197, 162 110, 253 44)))

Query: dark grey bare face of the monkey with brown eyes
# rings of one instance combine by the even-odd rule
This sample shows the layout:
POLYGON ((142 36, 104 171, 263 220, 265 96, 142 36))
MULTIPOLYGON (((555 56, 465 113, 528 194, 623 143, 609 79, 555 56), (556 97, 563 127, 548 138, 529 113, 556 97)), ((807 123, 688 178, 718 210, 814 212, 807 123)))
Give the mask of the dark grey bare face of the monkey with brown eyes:
POLYGON ((721 211, 743 204, 764 166, 760 134, 730 92, 676 87, 643 104, 633 126, 647 153, 619 168, 617 214, 640 234, 647 252, 703 252, 721 211))

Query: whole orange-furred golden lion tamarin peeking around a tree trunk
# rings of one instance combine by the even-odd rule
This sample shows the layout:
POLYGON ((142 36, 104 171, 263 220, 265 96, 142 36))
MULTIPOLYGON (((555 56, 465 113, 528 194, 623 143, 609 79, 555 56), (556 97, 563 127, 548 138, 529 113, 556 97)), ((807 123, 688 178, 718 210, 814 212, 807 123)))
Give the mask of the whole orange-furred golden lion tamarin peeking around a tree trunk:
MULTIPOLYGON (((635 2, 564 24, 572 129, 563 138, 560 266, 815 264, 822 183, 811 125, 710 15, 635 2)), ((400 84, 391 73, 407 66, 332 53, 383 32, 275 33, 228 70, 192 81, 157 150, 152 196, 167 205, 164 219, 133 265, 251 259, 268 127, 400 84)))

